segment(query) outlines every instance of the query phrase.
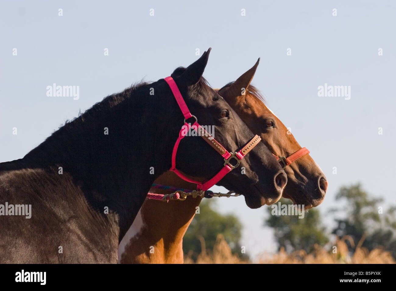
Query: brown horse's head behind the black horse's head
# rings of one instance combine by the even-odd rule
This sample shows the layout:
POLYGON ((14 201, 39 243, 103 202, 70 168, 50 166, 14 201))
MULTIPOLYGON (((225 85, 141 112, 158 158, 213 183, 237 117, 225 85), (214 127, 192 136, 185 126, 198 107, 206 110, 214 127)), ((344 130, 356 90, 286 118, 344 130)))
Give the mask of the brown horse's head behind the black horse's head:
MULTIPOLYGON (((261 136, 272 154, 288 157, 301 149, 301 146, 274 112, 264 105, 259 91, 250 85, 259 60, 235 82, 221 88, 219 95, 228 102, 253 133, 261 136)), ((305 205, 305 209, 322 203, 327 180, 308 154, 287 165, 284 171, 287 174, 287 184, 282 196, 291 199, 294 204, 305 205)))

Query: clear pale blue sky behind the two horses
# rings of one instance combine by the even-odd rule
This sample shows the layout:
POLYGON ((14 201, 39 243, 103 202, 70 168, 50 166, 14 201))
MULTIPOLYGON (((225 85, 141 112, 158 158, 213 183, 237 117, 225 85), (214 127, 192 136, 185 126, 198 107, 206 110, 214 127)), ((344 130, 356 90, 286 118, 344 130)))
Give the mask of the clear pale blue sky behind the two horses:
MULTIPOLYGON (((213 87, 261 57, 253 83, 329 181, 321 210, 358 181, 386 208, 396 202, 395 19, 393 1, 2 2, 0 162, 22 158, 103 97, 164 78, 195 61, 196 48, 212 47, 204 76, 213 87), (80 86, 80 99, 47 97, 53 83, 80 86), (325 83, 351 86, 350 100, 318 97, 325 83)), ((263 207, 249 209, 243 198, 217 206, 244 223, 247 253, 274 249, 263 207)))

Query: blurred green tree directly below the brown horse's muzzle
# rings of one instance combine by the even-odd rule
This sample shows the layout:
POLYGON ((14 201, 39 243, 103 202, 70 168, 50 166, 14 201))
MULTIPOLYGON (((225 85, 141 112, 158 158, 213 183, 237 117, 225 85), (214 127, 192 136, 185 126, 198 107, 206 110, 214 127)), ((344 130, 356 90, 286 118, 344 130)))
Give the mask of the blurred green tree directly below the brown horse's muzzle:
MULTIPOLYGON (((279 202, 281 205, 291 205, 291 201, 284 198, 279 202)), ((328 242, 326 228, 322 225, 318 209, 309 209, 302 219, 297 215, 273 215, 272 207, 267 207, 267 212, 269 217, 265 225, 274 228, 278 250, 284 247, 288 252, 303 249, 310 253, 315 243, 323 246, 328 242)))

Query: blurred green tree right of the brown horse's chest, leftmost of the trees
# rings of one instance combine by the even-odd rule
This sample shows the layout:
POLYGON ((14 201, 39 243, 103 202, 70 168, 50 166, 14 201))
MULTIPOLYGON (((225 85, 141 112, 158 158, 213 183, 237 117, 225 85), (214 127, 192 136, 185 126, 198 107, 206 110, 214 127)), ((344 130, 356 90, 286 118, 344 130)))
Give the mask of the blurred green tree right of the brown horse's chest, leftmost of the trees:
POLYGON ((213 201, 215 198, 204 199, 200 204, 200 213, 194 216, 186 234, 183 237, 183 252, 192 252, 191 258, 196 261, 201 253, 200 238, 204 238, 206 251, 213 250, 218 234, 223 234, 233 254, 241 254, 239 240, 241 238, 242 224, 235 215, 221 215, 215 211, 213 201))

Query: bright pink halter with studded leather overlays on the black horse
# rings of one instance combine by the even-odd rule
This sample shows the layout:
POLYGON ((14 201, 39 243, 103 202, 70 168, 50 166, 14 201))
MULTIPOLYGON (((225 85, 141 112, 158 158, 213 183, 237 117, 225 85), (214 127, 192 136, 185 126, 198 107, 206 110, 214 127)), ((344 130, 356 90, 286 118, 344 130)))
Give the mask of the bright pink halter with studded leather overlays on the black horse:
POLYGON ((190 110, 188 110, 188 107, 184 102, 183 96, 181 95, 179 88, 177 87, 173 78, 166 77, 164 80, 171 88, 173 96, 175 96, 177 104, 179 105, 180 110, 183 113, 184 126, 186 126, 187 129, 193 127, 194 130, 200 132, 200 136, 224 158, 224 167, 209 181, 200 182, 186 177, 183 173, 176 169, 177 148, 179 147, 180 141, 185 137, 185 134, 187 133, 186 130, 183 129, 184 126, 179 131, 179 137, 177 138, 175 146, 173 146, 172 167, 170 168, 170 170, 175 172, 181 179, 190 183, 197 184, 197 190, 206 191, 211 186, 215 185, 217 182, 223 179, 223 177, 227 175, 227 173, 232 171, 232 169, 238 167, 240 161, 244 158, 244 156, 246 156, 247 153, 250 152, 261 141, 261 137, 255 135, 253 139, 251 139, 240 151, 233 153, 228 152, 218 141, 216 141, 211 135, 209 135, 209 133, 202 126, 198 124, 197 118, 190 113, 190 110), (192 124, 192 126, 186 122, 186 120, 189 118, 195 119, 195 122, 194 124, 192 124), (231 162, 232 159, 234 159, 234 161, 231 162))

